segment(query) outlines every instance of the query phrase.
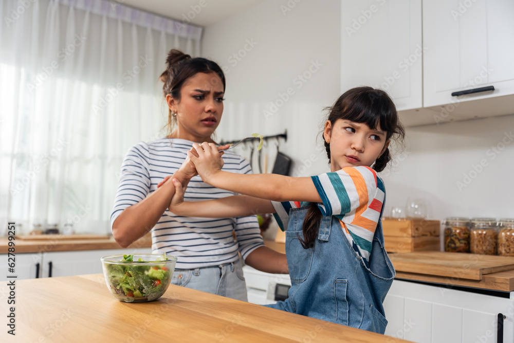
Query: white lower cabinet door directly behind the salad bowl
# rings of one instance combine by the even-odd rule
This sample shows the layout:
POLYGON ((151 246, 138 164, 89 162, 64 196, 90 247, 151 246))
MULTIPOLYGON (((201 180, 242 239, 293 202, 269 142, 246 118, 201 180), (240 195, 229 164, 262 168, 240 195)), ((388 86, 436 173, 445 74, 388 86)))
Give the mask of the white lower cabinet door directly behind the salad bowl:
POLYGON ((100 258, 119 254, 150 254, 151 248, 138 248, 137 251, 127 249, 57 251, 43 254, 43 277, 74 276, 83 274, 103 273, 100 258))

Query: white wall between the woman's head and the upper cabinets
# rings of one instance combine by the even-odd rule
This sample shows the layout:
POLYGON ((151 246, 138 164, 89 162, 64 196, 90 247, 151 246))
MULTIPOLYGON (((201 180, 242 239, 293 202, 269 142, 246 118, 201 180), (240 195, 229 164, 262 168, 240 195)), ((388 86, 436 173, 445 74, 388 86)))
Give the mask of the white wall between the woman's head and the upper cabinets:
MULTIPOLYGON (((289 3, 296 6, 287 12, 281 8, 287 1, 272 0, 206 27, 203 55, 226 72, 227 100, 217 138, 274 135, 287 129, 287 143, 280 149, 295 160, 291 175, 314 175, 328 170, 324 150, 315 145, 322 109, 339 96, 341 5, 338 0, 289 3), (313 62, 321 66, 311 67, 313 62), (310 77, 306 82, 298 78, 304 73, 310 77), (287 95, 288 88, 292 95, 287 95), (289 99, 266 116, 263 111, 270 110, 271 102, 281 105, 280 94, 289 99)), ((268 171, 274 151, 263 150, 263 160, 264 154, 270 155, 268 171)))

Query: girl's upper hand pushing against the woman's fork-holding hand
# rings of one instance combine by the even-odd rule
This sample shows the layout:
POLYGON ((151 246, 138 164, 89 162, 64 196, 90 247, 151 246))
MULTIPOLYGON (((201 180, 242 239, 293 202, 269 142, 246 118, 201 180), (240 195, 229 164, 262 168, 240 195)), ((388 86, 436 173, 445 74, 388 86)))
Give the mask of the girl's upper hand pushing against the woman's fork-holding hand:
POLYGON ((214 143, 203 142, 201 144, 194 143, 193 149, 188 151, 188 157, 193 161, 204 182, 212 174, 222 169, 223 159, 221 156, 223 151, 219 152, 218 149, 223 149, 223 147, 216 147, 214 143))

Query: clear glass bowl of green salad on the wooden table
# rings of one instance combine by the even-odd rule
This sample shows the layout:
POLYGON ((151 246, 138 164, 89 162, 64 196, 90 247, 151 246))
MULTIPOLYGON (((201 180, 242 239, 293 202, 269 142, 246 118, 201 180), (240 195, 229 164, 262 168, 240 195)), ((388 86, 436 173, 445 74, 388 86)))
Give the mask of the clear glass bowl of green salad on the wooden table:
POLYGON ((177 258, 166 254, 104 256, 103 275, 120 301, 146 302, 160 298, 170 285, 177 258))

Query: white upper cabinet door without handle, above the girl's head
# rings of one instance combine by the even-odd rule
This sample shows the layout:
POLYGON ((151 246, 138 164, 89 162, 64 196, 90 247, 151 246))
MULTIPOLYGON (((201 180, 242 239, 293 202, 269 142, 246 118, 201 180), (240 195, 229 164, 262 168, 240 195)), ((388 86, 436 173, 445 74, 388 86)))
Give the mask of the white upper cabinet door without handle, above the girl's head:
POLYGON ((341 11, 341 91, 369 85, 398 111, 422 107, 421 0, 350 0, 341 11))

